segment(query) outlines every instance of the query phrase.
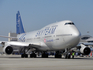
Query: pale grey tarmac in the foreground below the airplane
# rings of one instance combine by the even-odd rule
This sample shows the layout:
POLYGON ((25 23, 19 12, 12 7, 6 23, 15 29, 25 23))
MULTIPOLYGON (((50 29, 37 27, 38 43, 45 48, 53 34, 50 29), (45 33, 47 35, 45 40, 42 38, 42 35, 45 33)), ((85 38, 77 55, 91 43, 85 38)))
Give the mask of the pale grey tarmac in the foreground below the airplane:
POLYGON ((93 57, 74 59, 21 58, 20 55, 0 55, 0 70, 93 70, 93 57))

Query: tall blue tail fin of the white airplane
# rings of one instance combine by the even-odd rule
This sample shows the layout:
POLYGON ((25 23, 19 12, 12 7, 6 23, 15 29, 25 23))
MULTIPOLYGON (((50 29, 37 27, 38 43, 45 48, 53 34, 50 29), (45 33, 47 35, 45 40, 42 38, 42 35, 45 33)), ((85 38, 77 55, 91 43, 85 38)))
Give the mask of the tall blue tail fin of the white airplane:
POLYGON ((18 13, 16 14, 16 34, 21 34, 21 33, 25 33, 25 31, 23 28, 20 12, 18 11, 18 13))

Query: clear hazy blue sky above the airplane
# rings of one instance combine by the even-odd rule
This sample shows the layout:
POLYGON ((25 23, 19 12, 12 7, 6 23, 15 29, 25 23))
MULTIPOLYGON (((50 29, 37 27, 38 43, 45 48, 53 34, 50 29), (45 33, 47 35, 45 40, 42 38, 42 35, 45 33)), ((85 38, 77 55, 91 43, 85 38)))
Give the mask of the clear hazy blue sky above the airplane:
POLYGON ((82 35, 93 36, 93 0, 0 0, 0 35, 16 32, 17 11, 26 32, 71 20, 82 35))

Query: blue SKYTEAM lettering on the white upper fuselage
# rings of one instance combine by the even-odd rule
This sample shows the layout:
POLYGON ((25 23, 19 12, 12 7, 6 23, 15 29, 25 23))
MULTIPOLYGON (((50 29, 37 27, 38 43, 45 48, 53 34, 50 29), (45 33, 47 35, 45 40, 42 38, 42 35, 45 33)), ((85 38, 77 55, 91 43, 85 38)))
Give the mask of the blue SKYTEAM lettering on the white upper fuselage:
POLYGON ((46 27, 45 29, 38 31, 37 34, 36 34, 36 37, 41 36, 41 35, 54 34, 57 26, 58 25, 51 26, 51 27, 46 27))

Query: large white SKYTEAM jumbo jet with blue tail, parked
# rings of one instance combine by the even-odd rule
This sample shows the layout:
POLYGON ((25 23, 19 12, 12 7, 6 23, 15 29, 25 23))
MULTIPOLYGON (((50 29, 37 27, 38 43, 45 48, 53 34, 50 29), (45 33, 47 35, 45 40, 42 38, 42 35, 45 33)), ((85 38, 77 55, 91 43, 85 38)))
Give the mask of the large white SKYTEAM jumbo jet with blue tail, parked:
MULTIPOLYGON (((25 32, 19 11, 16 14, 16 34, 17 37, 0 37, 17 38, 18 41, 1 41, 0 43, 3 45, 3 51, 8 55, 13 53, 14 47, 20 48, 22 58, 28 58, 29 50, 32 50, 31 58, 37 57, 36 52, 40 52, 42 58, 48 58, 48 51, 55 51, 55 58, 62 58, 60 51, 64 51, 65 58, 70 58, 68 53, 79 43, 81 36, 80 31, 70 20, 52 23, 36 31, 25 32)), ((81 53, 85 55, 90 53, 90 48, 80 45, 81 53)))

